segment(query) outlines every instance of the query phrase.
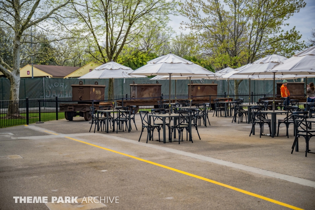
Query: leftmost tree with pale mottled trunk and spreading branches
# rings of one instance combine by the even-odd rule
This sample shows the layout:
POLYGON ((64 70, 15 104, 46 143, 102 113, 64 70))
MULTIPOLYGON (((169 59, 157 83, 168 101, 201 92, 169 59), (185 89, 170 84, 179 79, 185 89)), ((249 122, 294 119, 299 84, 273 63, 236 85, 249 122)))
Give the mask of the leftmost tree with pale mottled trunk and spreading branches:
MULTIPOLYGON (((12 0, 0 1, 0 28, 5 28, 14 33, 14 38, 10 48, 12 49, 12 65, 6 63, 0 57, 0 71, 10 81, 10 100, 19 99, 20 87, 20 62, 36 55, 28 54, 21 58, 20 47, 23 38, 31 26, 38 26, 43 21, 51 18, 58 19, 57 11, 70 3, 71 0, 43 1, 41 0, 12 0), (32 20, 31 20, 32 19, 32 20)), ((45 28, 44 26, 41 26, 45 28)), ((29 43, 29 42, 25 42, 29 43)), ((7 118, 20 118, 18 103, 11 102, 8 108, 7 118)))

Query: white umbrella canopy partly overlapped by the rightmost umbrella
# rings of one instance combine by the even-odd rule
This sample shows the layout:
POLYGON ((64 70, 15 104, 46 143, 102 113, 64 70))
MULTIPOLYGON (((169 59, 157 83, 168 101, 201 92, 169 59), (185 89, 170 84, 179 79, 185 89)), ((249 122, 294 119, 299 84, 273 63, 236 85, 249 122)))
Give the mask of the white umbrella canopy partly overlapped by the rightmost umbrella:
MULTIPOLYGON (((245 69, 239 70, 238 72, 236 72, 235 74, 239 75, 239 74, 243 74, 243 75, 266 75, 265 71, 272 68, 273 66, 277 65, 278 63, 281 63, 283 61, 287 60, 286 57, 281 56, 281 55, 268 55, 264 58, 261 58, 257 61, 255 61, 250 67, 247 67, 245 69)), ((271 78, 272 75, 270 75, 271 78)), ((268 78, 265 77, 265 78, 268 78)))

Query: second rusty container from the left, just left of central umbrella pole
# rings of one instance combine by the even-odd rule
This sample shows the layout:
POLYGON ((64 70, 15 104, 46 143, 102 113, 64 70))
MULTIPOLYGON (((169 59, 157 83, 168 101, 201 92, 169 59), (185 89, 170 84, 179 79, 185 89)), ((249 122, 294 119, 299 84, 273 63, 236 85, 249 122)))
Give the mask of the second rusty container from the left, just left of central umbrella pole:
POLYGON ((159 101, 160 98, 147 98, 147 97, 160 97, 161 84, 130 84, 130 98, 146 98, 134 99, 134 101, 159 101))

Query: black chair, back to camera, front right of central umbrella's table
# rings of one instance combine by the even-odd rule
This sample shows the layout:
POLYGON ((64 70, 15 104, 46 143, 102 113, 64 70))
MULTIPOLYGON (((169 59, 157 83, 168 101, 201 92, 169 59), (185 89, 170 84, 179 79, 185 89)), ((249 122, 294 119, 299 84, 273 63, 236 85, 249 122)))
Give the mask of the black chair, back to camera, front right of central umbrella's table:
POLYGON ((188 132, 189 132, 189 139, 192 141, 192 136, 189 129, 191 127, 189 126, 189 123, 191 124, 192 111, 179 111, 178 114, 179 114, 179 117, 177 118, 178 120, 177 125, 171 126, 171 137, 173 136, 173 132, 176 129, 178 131, 178 144, 180 144, 180 137, 181 137, 181 141, 183 141, 183 131, 184 129, 186 129, 186 141, 188 141, 188 132))

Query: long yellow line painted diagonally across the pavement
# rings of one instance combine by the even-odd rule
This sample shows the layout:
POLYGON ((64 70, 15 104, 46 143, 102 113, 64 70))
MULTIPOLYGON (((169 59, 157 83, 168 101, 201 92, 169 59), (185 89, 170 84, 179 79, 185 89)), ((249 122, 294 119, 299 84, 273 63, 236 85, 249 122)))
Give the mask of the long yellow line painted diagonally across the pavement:
POLYGON ((72 139, 74 141, 77 141, 77 142, 81 142, 81 143, 84 143, 84 144, 88 144, 88 145, 91 145, 93 147, 97 147, 97 148, 100 148, 100 149, 105 149, 107 151, 110 151, 110 152, 114 152, 114 153, 117 153, 117 154, 120 154, 120 155, 124 155, 124 156, 127 156, 127 157, 130 157, 130 158, 134 158, 136 160, 140 160, 140 161, 143 161, 143 162, 146 162, 146 163, 150 163, 152 165, 155 165, 155 166, 160 166, 162 168, 166 168, 166 169, 169 169, 171 171, 175 171, 175 172, 178 172, 178 173, 182 173, 182 174, 185 174, 187 176, 190 176, 190 177, 194 177, 194 178, 198 178, 198 179, 201 179, 203 181, 207 181, 207 182, 210 182, 210 183, 213 183, 213 184, 217 184, 217 185, 220 185, 222 187, 226 187, 226 188, 229 188, 229 189, 232 189, 232 190, 235 190, 235 191, 238 191, 238 192, 241 192, 241 193, 244 193, 244 194, 247 194, 247 195, 251 195, 251 196, 254 196, 256 198, 260 198, 260 199, 263 199, 265 201, 269 201, 269 202, 272 202, 272 203, 276 203, 278 205, 281 205, 281 206, 285 206, 285 207, 288 207, 288 208, 291 208, 291 209, 295 209, 295 210, 303 210, 301 208, 298 208, 298 207, 295 207, 295 206, 291 206, 289 204, 286 204, 286 203, 283 203, 283 202, 280 202, 280 201, 276 201, 276 200, 273 200, 271 198, 267 198, 265 196, 262 196, 262 195, 258 195, 258 194, 255 194, 255 193, 252 193, 252 192, 249 192, 249 191, 246 191, 246 190, 242 190, 242 189, 239 189, 239 188, 236 188, 236 187, 232 187, 230 185, 227 185, 227 184, 223 184, 221 182, 217 182, 217 181, 214 181, 214 180, 211 180, 211 179, 208 179, 208 178, 204 178, 204 177, 201 177, 201 176, 198 176, 198 175, 195 175, 195 174, 192 174, 192 173, 188 173, 188 172, 184 172, 184 171, 181 171, 181 170, 178 170, 176 168, 171 168, 169 166, 164 166, 162 164, 158 164, 158 163, 155 163, 155 162, 152 162, 152 161, 149 161, 149 160, 145 160, 145 159, 142 159, 142 158, 138 158, 138 157, 135 157, 135 156, 132 156, 132 155, 128 155, 128 154, 125 154, 125 153, 122 153, 122 152, 117 152, 115 150, 112 150, 112 149, 107 149, 105 147, 100 147, 98 145, 95 145, 95 144, 91 144, 91 143, 88 143, 88 142, 83 142, 83 141, 80 141, 80 140, 77 140, 75 138, 71 138, 71 137, 66 137, 66 138, 69 138, 69 139, 72 139))

